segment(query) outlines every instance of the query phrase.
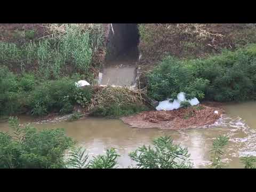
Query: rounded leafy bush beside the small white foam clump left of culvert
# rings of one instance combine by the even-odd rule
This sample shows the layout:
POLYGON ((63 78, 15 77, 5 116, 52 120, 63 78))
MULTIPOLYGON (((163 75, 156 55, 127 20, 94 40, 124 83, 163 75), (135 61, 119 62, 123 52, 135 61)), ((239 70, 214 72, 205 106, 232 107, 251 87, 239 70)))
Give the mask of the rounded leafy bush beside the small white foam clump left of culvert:
POLYGON ((78 103, 83 107, 91 99, 91 87, 76 87, 75 82, 68 78, 45 82, 31 93, 30 106, 33 115, 46 115, 52 111, 66 114, 78 103))

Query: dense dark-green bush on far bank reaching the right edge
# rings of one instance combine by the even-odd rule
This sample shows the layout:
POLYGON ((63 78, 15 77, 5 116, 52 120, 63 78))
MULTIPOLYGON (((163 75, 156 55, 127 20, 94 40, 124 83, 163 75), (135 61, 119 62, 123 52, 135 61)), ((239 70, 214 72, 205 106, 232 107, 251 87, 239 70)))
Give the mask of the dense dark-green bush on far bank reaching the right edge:
POLYGON ((215 101, 255 99, 256 45, 191 61, 196 76, 210 81, 205 97, 215 101))

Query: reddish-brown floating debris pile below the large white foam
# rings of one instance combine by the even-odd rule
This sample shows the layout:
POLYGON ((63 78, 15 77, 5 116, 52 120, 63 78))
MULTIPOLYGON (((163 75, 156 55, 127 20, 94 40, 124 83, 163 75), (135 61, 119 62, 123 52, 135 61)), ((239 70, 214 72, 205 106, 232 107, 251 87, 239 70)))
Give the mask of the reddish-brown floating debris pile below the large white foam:
POLYGON ((221 108, 200 105, 172 111, 144 111, 121 119, 132 127, 178 130, 211 125, 223 113, 221 108), (218 114, 214 113, 215 110, 218 114))

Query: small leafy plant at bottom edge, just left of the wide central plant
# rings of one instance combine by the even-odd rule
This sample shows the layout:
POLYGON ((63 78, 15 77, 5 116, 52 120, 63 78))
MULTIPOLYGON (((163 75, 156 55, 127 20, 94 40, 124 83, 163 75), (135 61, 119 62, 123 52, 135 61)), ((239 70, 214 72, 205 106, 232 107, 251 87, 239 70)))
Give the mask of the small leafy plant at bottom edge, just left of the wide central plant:
POLYGON ((113 169, 116 168, 117 157, 119 155, 116 153, 114 148, 107 149, 106 155, 97 155, 93 157, 89 164, 91 169, 113 169))

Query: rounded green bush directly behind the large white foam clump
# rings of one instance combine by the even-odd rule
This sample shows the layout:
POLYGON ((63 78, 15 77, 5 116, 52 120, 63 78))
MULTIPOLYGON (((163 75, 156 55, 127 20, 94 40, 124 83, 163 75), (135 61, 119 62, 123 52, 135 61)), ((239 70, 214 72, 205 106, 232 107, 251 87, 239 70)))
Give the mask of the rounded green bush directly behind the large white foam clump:
POLYGON ((206 79, 195 78, 190 68, 172 57, 166 57, 147 77, 149 96, 158 101, 175 99, 179 92, 185 92, 187 99, 203 98, 209 83, 206 79))

